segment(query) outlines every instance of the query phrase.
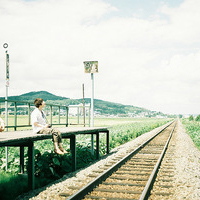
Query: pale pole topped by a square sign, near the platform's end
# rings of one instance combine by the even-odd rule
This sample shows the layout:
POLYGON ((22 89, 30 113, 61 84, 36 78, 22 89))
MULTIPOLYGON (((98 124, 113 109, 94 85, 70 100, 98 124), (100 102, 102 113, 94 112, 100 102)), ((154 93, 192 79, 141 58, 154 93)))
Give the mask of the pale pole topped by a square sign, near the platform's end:
MULTIPOLYGON (((91 96, 91 127, 94 127, 94 73, 98 73, 98 61, 84 61, 85 73, 91 74, 92 96, 91 96)), ((91 153, 94 155, 94 136, 91 135, 91 153)))

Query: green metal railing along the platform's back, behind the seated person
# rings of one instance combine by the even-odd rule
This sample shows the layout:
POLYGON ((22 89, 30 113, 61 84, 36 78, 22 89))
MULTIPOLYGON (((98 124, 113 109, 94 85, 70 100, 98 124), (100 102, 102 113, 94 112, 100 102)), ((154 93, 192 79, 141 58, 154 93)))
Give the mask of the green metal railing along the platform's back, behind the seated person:
MULTIPOLYGON (((14 101, 0 99, 0 114, 5 120, 5 102, 7 101, 7 112, 8 120, 6 130, 14 128, 16 131, 18 128, 31 127, 31 112, 35 109, 33 102, 28 101, 14 101)), ((89 125, 90 126, 90 106, 85 106, 88 108, 88 123, 80 123, 80 113, 79 109, 83 106, 73 105, 77 107, 77 123, 69 123, 69 108, 70 106, 65 105, 55 105, 46 103, 44 111, 47 115, 47 120, 51 125, 89 125)))

